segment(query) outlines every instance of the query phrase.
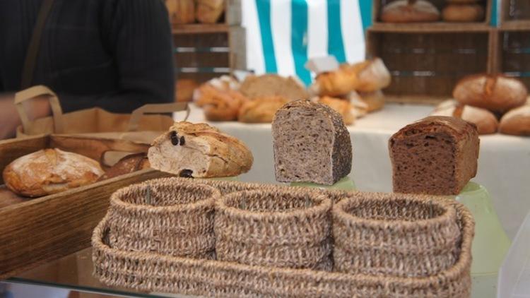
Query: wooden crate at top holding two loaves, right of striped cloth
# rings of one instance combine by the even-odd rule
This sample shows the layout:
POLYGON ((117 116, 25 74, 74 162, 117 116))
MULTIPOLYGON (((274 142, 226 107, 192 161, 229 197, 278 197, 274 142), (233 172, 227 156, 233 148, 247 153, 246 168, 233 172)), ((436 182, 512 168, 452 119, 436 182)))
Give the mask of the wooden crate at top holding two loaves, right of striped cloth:
MULTIPOLYGON (((396 1, 396 0, 373 0, 373 6, 372 6, 372 23, 374 28, 414 28, 414 27, 423 27, 425 30, 466 30, 466 28, 476 28, 478 27, 488 27, 490 25, 491 21, 491 11, 492 11, 492 4, 493 0, 482 0, 480 3, 485 8, 485 18, 481 22, 476 23, 450 23, 450 22, 433 22, 433 23, 403 23, 403 24, 396 24, 396 23, 382 23, 381 19, 379 18, 381 13, 381 8, 385 5, 396 1)), ((430 3, 434 4, 442 13, 442 10, 445 6, 447 6, 446 0, 427 0, 430 3)), ((506 1, 506 0, 505 0, 506 1)), ((527 0, 522 0, 527 1, 527 0)))

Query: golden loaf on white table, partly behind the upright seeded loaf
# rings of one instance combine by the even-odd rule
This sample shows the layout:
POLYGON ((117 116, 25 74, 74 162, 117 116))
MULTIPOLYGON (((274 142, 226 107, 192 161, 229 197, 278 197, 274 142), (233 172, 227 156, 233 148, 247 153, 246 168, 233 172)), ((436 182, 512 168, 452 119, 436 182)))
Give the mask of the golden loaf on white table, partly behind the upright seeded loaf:
POLYGON ((261 97, 245 102, 237 120, 244 123, 271 123, 276 111, 289 100, 281 96, 261 97))

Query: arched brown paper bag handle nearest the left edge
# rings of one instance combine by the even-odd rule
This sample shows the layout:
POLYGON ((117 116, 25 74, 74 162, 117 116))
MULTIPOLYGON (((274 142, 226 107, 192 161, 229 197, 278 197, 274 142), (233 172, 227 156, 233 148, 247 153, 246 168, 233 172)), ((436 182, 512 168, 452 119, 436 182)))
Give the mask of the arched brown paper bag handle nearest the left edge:
POLYGON ((63 110, 61 109, 61 105, 59 104, 59 98, 52 90, 50 90, 44 85, 33 86, 31 88, 15 93, 15 107, 18 112, 18 116, 20 117, 20 121, 22 121, 22 127, 24 131, 30 130, 31 122, 30 122, 30 118, 28 117, 28 113, 26 113, 26 110, 23 107, 23 102, 28 101, 28 100, 33 100, 34 98, 40 97, 40 96, 46 96, 48 98, 50 107, 52 107, 52 116, 54 120, 54 132, 63 133, 64 132, 64 125, 62 121, 63 110))

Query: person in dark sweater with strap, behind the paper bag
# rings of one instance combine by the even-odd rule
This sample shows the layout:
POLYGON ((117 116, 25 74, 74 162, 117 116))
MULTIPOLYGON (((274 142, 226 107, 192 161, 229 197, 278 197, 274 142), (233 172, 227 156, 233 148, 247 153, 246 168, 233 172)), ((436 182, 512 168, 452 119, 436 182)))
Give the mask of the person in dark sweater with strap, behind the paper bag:
MULTIPOLYGON (((0 139, 20 124, 14 93, 42 0, 0 1, 0 139)), ((163 0, 55 0, 30 85, 57 93, 64 112, 101 107, 125 112, 172 102, 172 35, 163 0)), ((45 117, 46 99, 27 105, 45 117)))

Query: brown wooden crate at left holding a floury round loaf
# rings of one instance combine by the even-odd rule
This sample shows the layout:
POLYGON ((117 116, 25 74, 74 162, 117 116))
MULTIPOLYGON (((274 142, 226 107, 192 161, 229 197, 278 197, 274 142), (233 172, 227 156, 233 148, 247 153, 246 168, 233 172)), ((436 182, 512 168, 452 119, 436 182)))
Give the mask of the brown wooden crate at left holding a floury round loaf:
MULTIPOLYGON (((50 136, 0 141, 0 169, 22 155, 62 148, 60 143, 50 136)), ((0 280, 87 248, 95 225, 107 212, 111 193, 165 176, 146 169, 0 208, 0 280)))

